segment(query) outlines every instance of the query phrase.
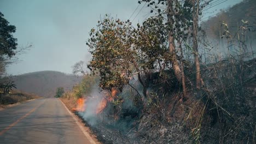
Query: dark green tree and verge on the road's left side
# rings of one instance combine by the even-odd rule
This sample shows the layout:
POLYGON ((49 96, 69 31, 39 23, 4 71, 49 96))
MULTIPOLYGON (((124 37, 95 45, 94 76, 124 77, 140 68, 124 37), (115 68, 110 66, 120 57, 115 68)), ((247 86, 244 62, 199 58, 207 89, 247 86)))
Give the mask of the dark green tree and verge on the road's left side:
POLYGON ((32 47, 32 45, 18 47, 17 39, 13 37, 15 31, 16 27, 10 25, 0 11, 0 105, 39 98, 33 94, 13 91, 16 85, 11 80, 11 76, 8 76, 6 73, 8 65, 18 61, 15 55, 26 52, 26 50, 32 47))

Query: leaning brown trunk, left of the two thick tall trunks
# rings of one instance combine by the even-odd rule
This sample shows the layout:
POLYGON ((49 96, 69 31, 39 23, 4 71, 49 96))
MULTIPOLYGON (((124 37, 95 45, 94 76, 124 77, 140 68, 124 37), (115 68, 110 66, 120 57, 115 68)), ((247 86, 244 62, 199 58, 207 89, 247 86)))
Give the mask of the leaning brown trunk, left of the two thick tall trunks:
POLYGON ((172 63, 172 68, 174 70, 174 74, 176 76, 176 78, 178 79, 178 81, 180 83, 182 83, 182 76, 181 76, 181 68, 179 68, 179 63, 177 60, 177 56, 176 56, 176 51, 175 51, 175 44, 174 44, 174 37, 173 37, 173 1, 172 0, 168 0, 167 1, 167 20, 168 20, 168 25, 170 26, 170 30, 168 33, 168 42, 169 42, 169 49, 170 49, 170 53, 172 55, 172 59, 171 59, 171 63, 172 63))

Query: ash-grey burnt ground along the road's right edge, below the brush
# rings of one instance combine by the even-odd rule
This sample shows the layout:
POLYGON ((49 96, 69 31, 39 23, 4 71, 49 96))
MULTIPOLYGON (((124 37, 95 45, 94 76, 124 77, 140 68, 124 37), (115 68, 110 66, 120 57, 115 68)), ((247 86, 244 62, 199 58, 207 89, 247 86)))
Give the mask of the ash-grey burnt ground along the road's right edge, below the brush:
MULTIPOLYGON (((61 100, 69 110, 75 107, 71 99, 61 100)), ((129 128, 123 129, 120 128, 122 124, 109 124, 101 118, 96 118, 97 122, 90 124, 79 112, 73 112, 101 143, 191 143, 191 137, 184 131, 181 123, 155 121, 155 115, 152 113, 144 113, 135 119, 129 128)))

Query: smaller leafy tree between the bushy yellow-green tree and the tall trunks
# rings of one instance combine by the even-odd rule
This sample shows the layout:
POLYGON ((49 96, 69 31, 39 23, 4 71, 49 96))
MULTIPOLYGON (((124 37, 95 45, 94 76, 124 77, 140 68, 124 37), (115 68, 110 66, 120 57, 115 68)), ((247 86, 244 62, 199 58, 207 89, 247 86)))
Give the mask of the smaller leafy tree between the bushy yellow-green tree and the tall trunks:
POLYGON ((137 25, 133 31, 133 48, 136 50, 135 68, 141 70, 143 79, 138 73, 138 80, 143 86, 143 95, 147 96, 147 88, 151 75, 169 69, 171 64, 171 53, 168 51, 167 28, 164 24, 164 17, 150 17, 143 22, 142 26, 137 25))

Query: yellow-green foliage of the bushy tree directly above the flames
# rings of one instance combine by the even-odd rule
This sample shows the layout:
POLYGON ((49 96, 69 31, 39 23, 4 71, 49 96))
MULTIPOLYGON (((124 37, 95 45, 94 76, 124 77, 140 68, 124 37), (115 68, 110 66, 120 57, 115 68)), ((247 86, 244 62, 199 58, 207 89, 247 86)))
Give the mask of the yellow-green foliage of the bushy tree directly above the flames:
POLYGON ((122 89, 129 82, 124 73, 131 73, 130 63, 135 52, 131 48, 132 26, 130 22, 114 19, 98 21, 96 29, 91 29, 90 39, 86 43, 93 55, 88 68, 100 73, 100 87, 111 90, 122 89))

